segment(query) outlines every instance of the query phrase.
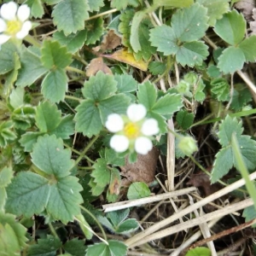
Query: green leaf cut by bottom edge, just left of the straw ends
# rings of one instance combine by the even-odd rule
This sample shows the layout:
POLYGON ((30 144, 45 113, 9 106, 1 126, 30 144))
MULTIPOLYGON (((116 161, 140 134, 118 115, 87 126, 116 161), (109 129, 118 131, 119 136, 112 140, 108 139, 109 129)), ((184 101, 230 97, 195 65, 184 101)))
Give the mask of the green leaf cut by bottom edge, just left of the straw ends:
POLYGON ((126 251, 127 246, 122 241, 108 240, 108 244, 101 242, 90 245, 85 256, 125 256, 126 251))

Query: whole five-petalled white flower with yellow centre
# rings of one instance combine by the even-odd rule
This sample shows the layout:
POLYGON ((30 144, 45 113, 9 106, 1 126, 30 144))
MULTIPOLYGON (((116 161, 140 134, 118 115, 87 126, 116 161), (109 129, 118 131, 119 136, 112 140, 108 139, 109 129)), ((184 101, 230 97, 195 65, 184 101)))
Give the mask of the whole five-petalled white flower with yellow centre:
POLYGON ((157 120, 145 119, 147 109, 142 104, 131 104, 126 114, 108 115, 106 127, 115 133, 110 139, 110 147, 119 153, 129 148, 138 154, 148 154, 153 148, 152 136, 160 131, 157 120))

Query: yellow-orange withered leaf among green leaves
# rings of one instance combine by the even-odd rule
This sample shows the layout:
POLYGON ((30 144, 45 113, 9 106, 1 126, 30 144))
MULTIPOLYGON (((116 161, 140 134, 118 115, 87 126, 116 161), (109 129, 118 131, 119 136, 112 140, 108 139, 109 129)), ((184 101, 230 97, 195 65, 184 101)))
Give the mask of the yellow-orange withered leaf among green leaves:
POLYGON ((133 54, 128 52, 127 49, 120 49, 113 53, 113 55, 103 55, 106 58, 113 59, 116 61, 124 62, 126 64, 131 65, 132 67, 137 67, 142 71, 148 70, 148 62, 146 61, 137 61, 133 54))

